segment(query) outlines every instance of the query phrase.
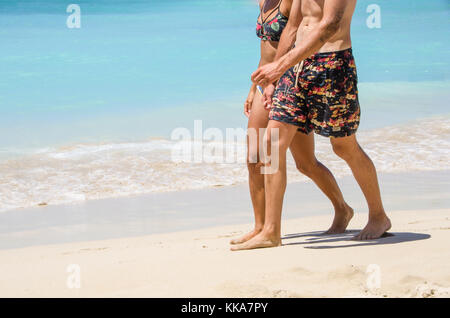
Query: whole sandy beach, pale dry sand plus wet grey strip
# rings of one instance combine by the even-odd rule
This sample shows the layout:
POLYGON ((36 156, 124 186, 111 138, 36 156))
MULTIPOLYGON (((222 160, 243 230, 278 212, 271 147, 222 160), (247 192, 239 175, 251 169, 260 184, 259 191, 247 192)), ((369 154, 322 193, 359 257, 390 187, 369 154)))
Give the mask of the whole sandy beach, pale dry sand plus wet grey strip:
MULTIPOLYGON (((229 251, 228 243, 232 237, 251 228, 251 210, 248 198, 244 199, 247 194, 242 191, 243 188, 209 190, 209 196, 202 191, 166 194, 172 201, 177 195, 178 198, 191 198, 190 204, 179 203, 180 211, 194 213, 195 202, 201 202, 205 210, 211 209, 217 220, 216 226, 205 221, 201 225, 192 225, 203 228, 171 233, 140 235, 145 231, 131 231, 128 236, 114 238, 111 231, 119 228, 123 220, 116 219, 117 224, 113 226, 113 216, 120 212, 120 202, 104 200, 95 204, 73 205, 70 208, 79 213, 88 208, 94 212, 93 206, 97 209, 107 206, 112 216, 110 227, 105 227, 107 222, 98 220, 97 215, 97 218, 91 219, 91 227, 75 224, 71 220, 71 226, 53 224, 46 228, 41 224, 41 228, 37 226, 33 230, 29 227, 26 231, 19 231, 16 224, 10 232, 2 228, 0 296, 449 297, 448 173, 382 175, 381 180, 393 222, 387 237, 366 242, 350 240, 364 226, 367 217, 362 195, 352 190, 355 184, 351 179, 340 179, 339 183, 359 213, 356 213, 347 233, 322 235, 331 222, 327 205, 321 207, 327 202, 322 199, 323 202, 316 205, 309 201, 305 204, 311 209, 309 212, 319 215, 295 216, 293 211, 298 210, 298 200, 302 198, 297 191, 308 191, 303 195, 311 199, 316 195, 312 184, 298 183, 288 186, 291 192, 287 194, 283 246, 243 252, 229 251), (225 193, 234 193, 235 201, 242 199, 241 203, 230 205, 233 208, 230 213, 241 216, 224 219, 220 223, 218 220, 221 218, 214 207, 219 212, 225 211, 227 200, 232 200, 225 193), (401 206, 404 208, 399 208, 401 206), (242 219, 247 222, 241 222, 242 219), (236 222, 241 224, 233 224, 236 222), (222 225, 227 223, 232 224, 222 225), (89 236, 88 230, 93 231, 96 227, 103 237, 110 238, 98 239, 102 237, 100 234, 97 239, 89 236), (44 232, 47 232, 47 237, 42 235, 44 232), (68 236, 55 234, 64 232, 69 233, 66 233, 68 236), (20 240, 27 235, 28 240, 20 240), (83 237, 86 239, 81 241, 83 237), (14 245, 15 240, 20 244, 14 245), (33 240, 34 244, 31 242, 33 240), (9 242, 10 246, 5 242, 9 242), (78 287, 70 283, 74 268, 79 271, 80 288, 69 288, 78 287)), ((139 208, 144 211, 146 200, 159 200, 160 208, 163 207, 162 196, 157 198, 147 196, 122 200, 129 203, 134 200, 134 204, 140 202, 139 208)), ((136 205, 131 205, 138 209, 136 205)), ((69 209, 67 206, 46 208, 59 211, 69 209)), ((38 215, 46 208, 33 211, 38 215)), ((126 214, 126 211, 124 209, 122 212, 126 214)), ((25 210, 13 212, 16 215, 29 213, 25 210)), ((198 213, 197 217, 201 218, 201 211, 198 213)), ((22 223, 26 223, 24 215, 27 214, 22 215, 22 223)), ((145 223, 144 213, 141 217, 145 223)), ((2 224, 5 220, 3 215, 2 224)), ((133 222, 139 223, 138 220, 134 218, 133 222)), ((89 223, 88 219, 84 221, 89 223)), ((186 228, 189 228, 188 224, 186 228)))

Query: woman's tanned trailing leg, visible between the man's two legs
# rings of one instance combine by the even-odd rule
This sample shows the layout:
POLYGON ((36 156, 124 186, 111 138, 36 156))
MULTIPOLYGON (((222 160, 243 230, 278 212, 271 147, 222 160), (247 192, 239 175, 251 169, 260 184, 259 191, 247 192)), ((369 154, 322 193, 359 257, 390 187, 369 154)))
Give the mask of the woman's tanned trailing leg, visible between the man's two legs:
POLYGON ((314 133, 297 132, 290 145, 297 169, 311 178, 334 206, 334 220, 327 234, 345 232, 353 217, 353 209, 345 202, 333 174, 319 162, 314 153, 314 133))

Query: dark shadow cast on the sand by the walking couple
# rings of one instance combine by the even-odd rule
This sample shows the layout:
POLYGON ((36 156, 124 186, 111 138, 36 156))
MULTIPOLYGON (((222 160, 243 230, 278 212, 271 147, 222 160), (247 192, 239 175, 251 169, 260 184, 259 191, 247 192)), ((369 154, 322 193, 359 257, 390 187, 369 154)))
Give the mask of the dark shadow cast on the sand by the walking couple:
POLYGON ((355 246, 368 246, 368 245, 382 245, 382 244, 397 244, 404 242, 412 242, 419 240, 426 240, 431 237, 429 234, 423 233, 411 233, 411 232, 394 232, 394 233, 384 233, 379 239, 368 240, 368 241, 355 241, 353 237, 359 233, 358 230, 348 230, 341 234, 324 234, 321 231, 297 233, 297 234, 287 234, 282 237, 284 241, 303 238, 302 241, 283 243, 283 245, 307 245, 305 248, 314 249, 326 249, 326 248, 343 248, 343 247, 355 247, 355 246), (314 244, 323 243, 336 243, 345 242, 346 244, 336 244, 336 245, 320 245, 315 246, 314 244))

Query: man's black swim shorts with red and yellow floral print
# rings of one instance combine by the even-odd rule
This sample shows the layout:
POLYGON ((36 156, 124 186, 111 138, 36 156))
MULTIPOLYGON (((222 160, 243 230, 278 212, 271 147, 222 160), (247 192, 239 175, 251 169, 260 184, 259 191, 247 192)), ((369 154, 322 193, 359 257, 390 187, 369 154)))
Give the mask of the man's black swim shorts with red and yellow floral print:
POLYGON ((360 107, 352 49, 312 55, 298 72, 297 85, 294 67, 278 81, 269 118, 325 137, 355 133, 360 107))

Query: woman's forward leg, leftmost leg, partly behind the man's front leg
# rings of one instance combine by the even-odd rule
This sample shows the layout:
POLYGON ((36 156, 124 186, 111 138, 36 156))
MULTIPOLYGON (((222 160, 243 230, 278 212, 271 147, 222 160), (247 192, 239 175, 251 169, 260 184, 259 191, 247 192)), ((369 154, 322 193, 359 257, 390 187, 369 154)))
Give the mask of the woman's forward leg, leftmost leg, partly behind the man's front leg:
POLYGON ((266 128, 269 122, 269 111, 264 108, 262 96, 256 92, 248 120, 249 136, 247 137, 247 167, 250 196, 255 215, 255 228, 242 237, 232 240, 231 244, 241 244, 262 231, 265 215, 264 175, 261 174, 259 158, 260 128, 266 128))

